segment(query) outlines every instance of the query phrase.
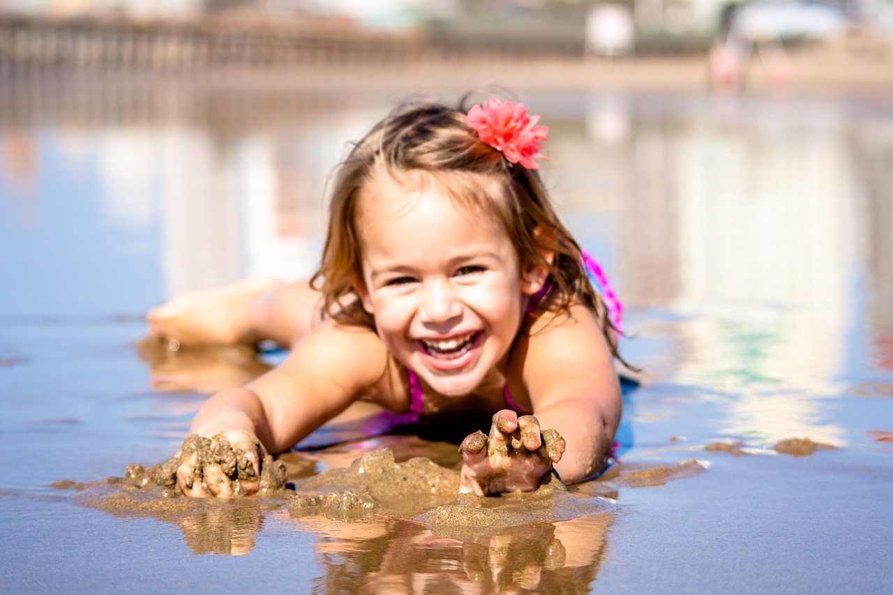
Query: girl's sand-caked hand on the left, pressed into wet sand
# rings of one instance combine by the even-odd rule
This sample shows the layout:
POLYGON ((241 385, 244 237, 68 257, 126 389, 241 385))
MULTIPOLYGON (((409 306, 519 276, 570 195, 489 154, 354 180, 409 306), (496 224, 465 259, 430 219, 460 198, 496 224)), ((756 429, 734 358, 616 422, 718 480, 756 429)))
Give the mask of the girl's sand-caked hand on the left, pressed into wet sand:
POLYGON ((186 496, 229 499, 251 496, 261 488, 260 441, 249 432, 218 432, 211 438, 197 434, 183 441, 176 457, 177 487, 186 496))

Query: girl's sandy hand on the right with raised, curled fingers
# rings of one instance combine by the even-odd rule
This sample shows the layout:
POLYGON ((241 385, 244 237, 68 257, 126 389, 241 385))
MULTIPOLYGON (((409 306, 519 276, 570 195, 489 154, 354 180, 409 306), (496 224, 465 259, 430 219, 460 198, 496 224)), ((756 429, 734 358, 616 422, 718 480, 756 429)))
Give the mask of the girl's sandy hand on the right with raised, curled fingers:
POLYGON ((555 430, 540 432, 533 415, 518 417, 510 409, 493 416, 489 437, 474 432, 459 447, 463 464, 460 493, 479 496, 531 491, 564 454, 564 439, 555 430))

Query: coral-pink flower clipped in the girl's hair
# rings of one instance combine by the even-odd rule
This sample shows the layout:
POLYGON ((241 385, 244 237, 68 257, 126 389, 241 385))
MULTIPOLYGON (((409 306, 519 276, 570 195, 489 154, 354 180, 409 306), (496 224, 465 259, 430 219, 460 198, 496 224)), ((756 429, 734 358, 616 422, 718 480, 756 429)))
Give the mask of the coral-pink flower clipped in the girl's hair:
POLYGON ((497 97, 475 105, 464 118, 477 131, 480 140, 503 152, 512 163, 530 170, 539 169, 534 159, 545 159, 539 150, 548 140, 548 127, 537 126, 538 115, 530 115, 524 104, 514 105, 497 97))

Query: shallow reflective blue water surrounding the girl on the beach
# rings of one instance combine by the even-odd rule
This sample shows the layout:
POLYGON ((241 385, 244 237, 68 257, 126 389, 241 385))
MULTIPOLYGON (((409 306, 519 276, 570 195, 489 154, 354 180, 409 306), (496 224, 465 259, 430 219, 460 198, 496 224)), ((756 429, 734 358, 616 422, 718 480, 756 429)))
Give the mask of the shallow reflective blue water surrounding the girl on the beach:
MULTIPOLYGON (((572 488, 599 512, 470 535, 276 502, 97 508, 119 489, 51 487, 162 461, 208 392, 263 370, 246 350, 138 348, 142 316, 185 289, 312 272, 326 176, 390 104, 41 85, 0 91, 4 591, 893 586, 889 101, 522 95, 551 127, 566 221, 626 303, 643 385, 621 463, 572 488), (795 438, 835 448, 773 449, 795 438)), ((382 447, 457 461, 405 436, 285 458, 311 476, 382 447)))

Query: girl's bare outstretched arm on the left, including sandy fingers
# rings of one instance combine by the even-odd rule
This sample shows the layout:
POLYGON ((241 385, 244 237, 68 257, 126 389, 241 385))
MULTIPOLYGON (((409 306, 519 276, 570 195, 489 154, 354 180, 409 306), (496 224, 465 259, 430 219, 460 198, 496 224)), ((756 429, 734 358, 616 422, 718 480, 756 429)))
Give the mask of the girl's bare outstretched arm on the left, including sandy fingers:
MULTIPOLYGON (((260 487, 265 453, 291 448, 361 394, 375 392, 387 365, 387 350, 374 332, 324 321, 292 348, 282 365, 244 388, 221 390, 209 398, 189 433, 212 439, 212 449, 226 439, 232 448, 245 451, 256 480, 240 483, 253 493, 260 487)), ((201 466, 189 457, 182 460, 180 489, 188 496, 230 497, 230 478, 213 465, 201 466), (204 481, 196 481, 199 474, 204 481)))

